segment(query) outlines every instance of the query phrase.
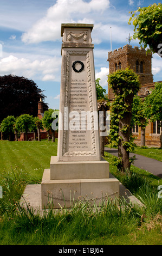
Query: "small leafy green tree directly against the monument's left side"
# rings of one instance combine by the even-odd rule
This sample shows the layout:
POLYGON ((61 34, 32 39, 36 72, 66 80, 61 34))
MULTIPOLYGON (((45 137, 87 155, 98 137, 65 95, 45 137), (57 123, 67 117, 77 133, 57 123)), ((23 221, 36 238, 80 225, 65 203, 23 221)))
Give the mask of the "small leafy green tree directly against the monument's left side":
MULTIPOLYGON (((55 111, 58 111, 58 110, 55 109, 55 111)), ((51 108, 48 111, 45 111, 44 117, 42 118, 42 123, 43 123, 44 128, 46 128, 46 130, 47 130, 48 140, 50 140, 49 131, 51 130, 52 141, 54 142, 55 141, 55 131, 52 129, 52 123, 56 119, 56 117, 53 117, 53 112, 54 112, 54 109, 51 109, 51 108)))

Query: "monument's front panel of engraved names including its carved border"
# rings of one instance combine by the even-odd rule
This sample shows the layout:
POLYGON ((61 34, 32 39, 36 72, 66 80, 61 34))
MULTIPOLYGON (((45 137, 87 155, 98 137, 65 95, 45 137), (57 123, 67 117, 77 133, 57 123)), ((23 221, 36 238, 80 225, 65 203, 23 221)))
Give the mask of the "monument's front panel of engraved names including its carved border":
POLYGON ((94 117, 88 119, 85 114, 81 118, 82 112, 93 112, 89 52, 69 51, 67 71, 64 106, 69 108, 69 130, 63 131, 63 155, 96 155, 94 117), (86 66, 82 72, 75 72, 72 68, 76 56, 80 56, 80 61, 86 66), (92 128, 87 130, 88 125, 92 128))

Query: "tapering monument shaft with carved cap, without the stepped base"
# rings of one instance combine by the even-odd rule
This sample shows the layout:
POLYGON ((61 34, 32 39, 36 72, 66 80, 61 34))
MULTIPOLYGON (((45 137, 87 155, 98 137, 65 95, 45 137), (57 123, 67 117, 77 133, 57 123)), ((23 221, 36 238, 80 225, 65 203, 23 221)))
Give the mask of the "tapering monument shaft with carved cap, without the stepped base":
POLYGON ((62 120, 59 117, 57 160, 100 161, 94 57, 90 34, 93 26, 63 24, 62 28, 62 120))

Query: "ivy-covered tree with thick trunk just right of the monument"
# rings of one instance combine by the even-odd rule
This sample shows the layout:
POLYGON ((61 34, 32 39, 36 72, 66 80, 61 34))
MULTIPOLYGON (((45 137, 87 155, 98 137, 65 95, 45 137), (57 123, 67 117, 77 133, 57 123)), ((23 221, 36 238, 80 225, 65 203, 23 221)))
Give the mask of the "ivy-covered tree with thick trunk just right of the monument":
POLYGON ((129 152, 134 144, 131 137, 131 118, 133 97, 140 88, 139 76, 131 69, 117 70, 108 75, 109 86, 113 89, 115 100, 111 106, 111 143, 118 146, 116 165, 125 172, 131 167, 129 152))

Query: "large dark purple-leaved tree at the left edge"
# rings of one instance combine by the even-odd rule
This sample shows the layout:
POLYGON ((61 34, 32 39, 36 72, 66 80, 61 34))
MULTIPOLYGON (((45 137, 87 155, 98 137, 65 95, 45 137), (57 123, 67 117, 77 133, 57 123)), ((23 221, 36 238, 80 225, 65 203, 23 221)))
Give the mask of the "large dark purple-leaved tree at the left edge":
MULTIPOLYGON (((36 117, 40 97, 45 98, 33 80, 23 76, 0 76, 0 121, 8 115, 30 114, 36 117)), ((44 111, 48 109, 44 102, 43 108, 44 111)))

